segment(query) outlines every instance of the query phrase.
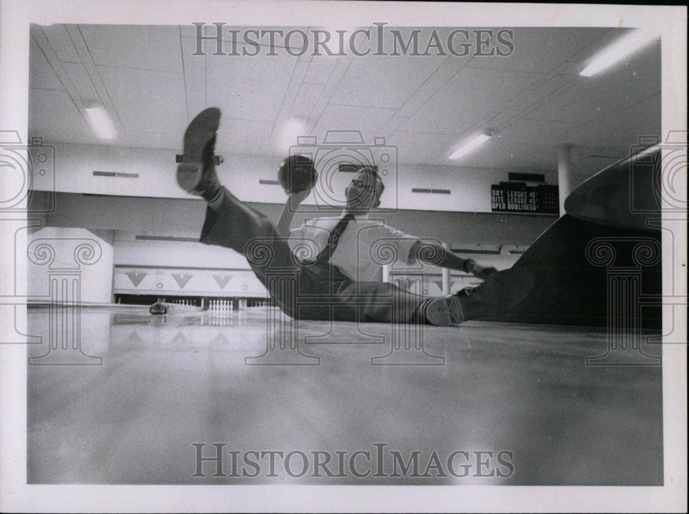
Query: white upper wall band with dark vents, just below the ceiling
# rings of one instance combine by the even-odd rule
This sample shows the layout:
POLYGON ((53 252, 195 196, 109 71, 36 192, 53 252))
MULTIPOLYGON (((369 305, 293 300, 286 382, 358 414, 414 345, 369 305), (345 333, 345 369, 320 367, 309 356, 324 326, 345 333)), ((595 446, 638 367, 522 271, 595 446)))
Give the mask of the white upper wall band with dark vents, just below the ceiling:
MULTIPOLYGON (((276 180, 281 159, 254 155, 225 156, 218 167, 220 181, 243 201, 282 204, 285 193, 280 186, 259 184, 260 179, 276 180)), ((318 164, 318 163, 317 163, 318 164)), ((83 192, 129 197, 189 198, 175 181, 175 152, 146 148, 94 146, 82 144, 55 145, 55 172, 35 177, 37 190, 83 192), (94 177, 94 170, 115 173, 138 173, 138 178, 94 177)), ((509 170, 457 168, 400 164, 391 167, 384 177, 382 208, 421 209, 454 212, 491 212, 491 184, 506 181, 509 170), (450 195, 411 193, 412 188, 449 189, 450 195)), ((523 170, 522 170, 523 171, 523 170)), ((342 201, 349 173, 329 175, 320 170, 323 182, 305 204, 319 205, 342 201), (332 192, 326 192, 331 190, 332 192)), ((557 170, 546 177, 557 181, 557 170)))

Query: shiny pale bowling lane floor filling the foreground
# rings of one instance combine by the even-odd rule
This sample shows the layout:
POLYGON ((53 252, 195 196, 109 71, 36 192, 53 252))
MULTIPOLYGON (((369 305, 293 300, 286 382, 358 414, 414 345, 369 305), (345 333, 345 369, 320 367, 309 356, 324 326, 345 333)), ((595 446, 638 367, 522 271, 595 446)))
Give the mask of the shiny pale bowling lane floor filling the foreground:
MULTIPOLYGON (((48 339, 50 312, 28 310, 30 334, 48 339)), ((55 351, 29 346, 29 483, 663 483, 661 368, 586 365, 604 328, 428 326, 422 351, 391 344, 393 328, 418 343, 409 327, 276 315, 82 308, 81 352, 100 365, 41 365, 55 351), (198 468, 213 444, 219 473, 198 468)))

